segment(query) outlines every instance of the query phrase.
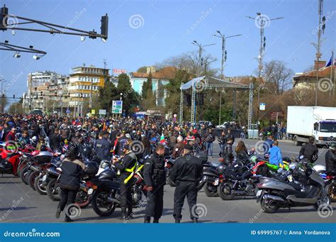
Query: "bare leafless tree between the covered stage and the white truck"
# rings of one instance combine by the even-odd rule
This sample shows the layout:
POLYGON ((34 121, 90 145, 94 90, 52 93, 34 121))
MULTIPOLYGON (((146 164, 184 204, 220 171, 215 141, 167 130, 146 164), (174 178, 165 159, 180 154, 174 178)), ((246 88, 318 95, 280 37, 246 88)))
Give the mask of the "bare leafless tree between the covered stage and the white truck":
POLYGON ((279 95, 291 88, 294 72, 281 60, 271 60, 264 66, 264 81, 269 89, 279 95))

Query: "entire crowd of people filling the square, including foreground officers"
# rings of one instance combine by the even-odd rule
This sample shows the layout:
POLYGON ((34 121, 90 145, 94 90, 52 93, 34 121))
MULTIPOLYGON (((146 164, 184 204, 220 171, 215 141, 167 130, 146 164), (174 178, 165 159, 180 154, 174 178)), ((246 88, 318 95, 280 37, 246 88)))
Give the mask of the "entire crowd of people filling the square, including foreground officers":
MULTIPOLYGON (((275 165, 283 165, 281 149, 277 139, 282 134, 276 126, 269 126, 266 140, 264 141, 264 153, 269 154, 269 162, 275 165)), ((134 171, 138 159, 144 159, 144 179, 147 190, 147 207, 145 210, 145 223, 149 223, 151 217, 158 223, 163 209, 164 155, 166 150, 171 151, 173 159, 176 159, 170 180, 176 184, 174 192, 174 219, 181 221, 181 209, 185 197, 188 200, 191 219, 198 221, 197 214, 191 209, 196 205, 196 182, 202 176, 203 164, 193 154, 195 150, 202 150, 213 157, 213 143, 216 141, 212 128, 191 126, 190 123, 174 123, 172 121, 160 121, 154 119, 100 119, 69 118, 60 116, 40 116, 32 114, 2 115, 0 116, 0 138, 3 142, 16 141, 19 146, 33 145, 38 150, 48 146, 51 150, 62 150, 67 145, 67 156, 63 160, 63 171, 60 180, 61 200, 57 207, 56 217, 67 204, 74 202, 79 182, 84 172, 84 164, 79 156, 79 145, 89 143, 99 160, 111 160, 113 155, 120 159, 114 159, 113 165, 121 177, 121 211, 123 219, 131 219, 133 204, 130 203, 130 185, 128 179, 134 171), (140 152, 135 152, 132 145, 140 144, 140 152)), ((219 156, 226 163, 248 159, 247 148, 242 138, 235 149, 235 136, 229 128, 217 137, 220 145, 219 156), (235 155, 234 155, 235 150, 235 155)), ((336 170, 335 144, 330 145, 330 151, 326 155, 326 163, 329 170, 336 170)), ((307 160, 315 162, 318 158, 318 148, 313 144, 313 138, 303 145, 300 150, 307 160)), ((72 221, 66 215, 65 221, 72 221)))

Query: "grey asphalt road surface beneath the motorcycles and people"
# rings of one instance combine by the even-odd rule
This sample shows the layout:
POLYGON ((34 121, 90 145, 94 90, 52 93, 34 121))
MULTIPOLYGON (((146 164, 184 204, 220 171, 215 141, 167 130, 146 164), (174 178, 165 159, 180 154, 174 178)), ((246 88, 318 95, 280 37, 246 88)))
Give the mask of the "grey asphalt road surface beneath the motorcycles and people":
MULTIPOLYGON (((257 141, 245 140, 245 143, 249 148, 252 148, 257 141)), ((283 155, 289 157, 296 157, 300 149, 300 147, 294 146, 291 141, 280 141, 279 147, 283 155)), ((324 165, 326 150, 323 148, 319 150, 320 155, 316 163, 324 165)), ((218 160, 218 151, 218 144, 215 144, 214 156, 211 160, 218 160)), ((164 189, 164 211, 160 222, 174 222, 172 216, 173 197, 174 188, 166 185, 164 189)), ((332 210, 323 216, 313 207, 291 208, 290 211, 289 209, 280 209, 276 214, 266 214, 253 197, 223 201, 220 197, 206 197, 203 190, 198 193, 197 202, 201 223, 330 223, 336 221, 336 203, 331 204, 332 210)), ((61 214, 60 219, 55 219, 57 204, 58 202, 52 202, 47 196, 40 195, 28 185, 24 185, 18 177, 11 175, 0 177, 0 223, 62 222, 64 214, 61 214)), ((144 209, 144 207, 135 209, 134 219, 131 219, 128 223, 142 223, 144 209)), ((181 222, 190 222, 186 201, 182 214, 181 222)), ((75 221, 82 223, 123 223, 122 220, 118 219, 119 216, 121 216, 121 210, 117 208, 111 216, 99 217, 89 205, 89 207, 81 209, 80 215, 75 218, 75 221)))

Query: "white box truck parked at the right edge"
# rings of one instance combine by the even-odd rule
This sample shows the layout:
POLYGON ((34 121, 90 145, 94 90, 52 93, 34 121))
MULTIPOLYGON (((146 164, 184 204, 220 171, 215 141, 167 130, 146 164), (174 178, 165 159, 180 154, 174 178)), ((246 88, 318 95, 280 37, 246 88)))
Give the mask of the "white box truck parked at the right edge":
POLYGON ((295 145, 315 138, 316 145, 328 145, 336 141, 336 107, 288 106, 287 134, 295 145))

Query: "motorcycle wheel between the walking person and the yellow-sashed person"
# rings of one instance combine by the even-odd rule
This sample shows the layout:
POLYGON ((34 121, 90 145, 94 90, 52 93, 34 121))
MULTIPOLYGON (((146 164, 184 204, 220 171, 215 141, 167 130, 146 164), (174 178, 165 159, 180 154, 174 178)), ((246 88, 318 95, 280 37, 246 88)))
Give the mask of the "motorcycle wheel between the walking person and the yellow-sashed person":
POLYGON ((114 202, 107 202, 108 192, 99 191, 91 199, 92 209, 99 216, 110 216, 116 209, 114 202))

